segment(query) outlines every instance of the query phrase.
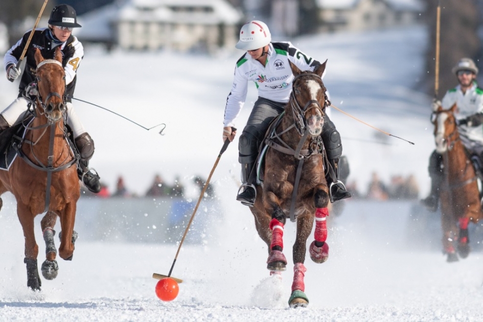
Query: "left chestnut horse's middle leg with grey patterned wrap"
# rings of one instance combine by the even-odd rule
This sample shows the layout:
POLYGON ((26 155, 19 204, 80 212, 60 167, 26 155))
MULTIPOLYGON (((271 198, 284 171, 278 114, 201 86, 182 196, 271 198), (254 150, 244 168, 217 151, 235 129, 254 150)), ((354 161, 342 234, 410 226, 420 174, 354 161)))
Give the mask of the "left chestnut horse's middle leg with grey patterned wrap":
POLYGON ((42 218, 40 225, 42 227, 43 240, 45 241, 45 261, 42 263, 41 271, 46 280, 53 280, 57 277, 59 265, 55 260, 57 256, 57 248, 54 243, 54 226, 57 221, 57 214, 49 211, 42 218))

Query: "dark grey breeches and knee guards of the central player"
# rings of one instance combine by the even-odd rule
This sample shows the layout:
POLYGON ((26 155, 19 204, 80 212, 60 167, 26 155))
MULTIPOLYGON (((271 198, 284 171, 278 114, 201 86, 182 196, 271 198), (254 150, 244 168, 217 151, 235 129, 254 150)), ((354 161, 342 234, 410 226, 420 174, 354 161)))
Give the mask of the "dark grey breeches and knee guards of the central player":
MULTIPOLYGON (((238 161, 241 164, 251 164, 256 161, 260 144, 271 121, 285 109, 285 105, 285 103, 264 98, 259 98, 255 102, 247 124, 240 135, 238 161)), ((327 157, 338 159, 342 155, 340 134, 327 114, 324 116, 324 127, 320 136, 324 142, 327 157)))

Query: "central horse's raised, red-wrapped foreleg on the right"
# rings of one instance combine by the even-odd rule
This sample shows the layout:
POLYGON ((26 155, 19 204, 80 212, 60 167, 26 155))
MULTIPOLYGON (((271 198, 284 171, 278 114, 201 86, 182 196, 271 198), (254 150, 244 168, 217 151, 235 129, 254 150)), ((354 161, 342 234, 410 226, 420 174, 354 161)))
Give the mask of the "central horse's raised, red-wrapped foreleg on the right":
POLYGON ((315 263, 324 263, 329 258, 329 244, 327 244, 327 217, 329 216, 329 195, 319 189, 315 193, 315 232, 314 241, 310 244, 310 259, 315 263))

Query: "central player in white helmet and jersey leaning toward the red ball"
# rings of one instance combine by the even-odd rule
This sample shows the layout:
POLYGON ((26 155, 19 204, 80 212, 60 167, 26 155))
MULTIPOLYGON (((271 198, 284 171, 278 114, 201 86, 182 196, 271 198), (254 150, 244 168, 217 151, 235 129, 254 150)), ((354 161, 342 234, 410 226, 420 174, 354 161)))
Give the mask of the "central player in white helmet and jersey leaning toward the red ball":
MULTIPOLYGON (((242 165, 243 185, 237 200, 252 206, 255 202, 255 186, 248 182, 254 168, 258 149, 270 122, 285 108, 292 91, 294 76, 289 62, 302 71, 314 71, 320 62, 293 47, 290 42, 271 42, 270 31, 264 22, 247 22, 240 30, 240 41, 236 48, 246 53, 237 61, 232 90, 228 95, 223 121, 223 139, 232 141, 235 120, 245 104, 248 82, 254 82, 259 98, 248 118, 239 140, 239 162, 242 165)), ((323 75, 324 76, 324 75, 323 75)), ((328 176, 328 183, 334 183, 329 191, 331 201, 349 198, 351 195, 341 181, 338 181, 338 161, 342 154, 340 134, 329 117, 325 116, 320 134, 337 178, 328 176)))

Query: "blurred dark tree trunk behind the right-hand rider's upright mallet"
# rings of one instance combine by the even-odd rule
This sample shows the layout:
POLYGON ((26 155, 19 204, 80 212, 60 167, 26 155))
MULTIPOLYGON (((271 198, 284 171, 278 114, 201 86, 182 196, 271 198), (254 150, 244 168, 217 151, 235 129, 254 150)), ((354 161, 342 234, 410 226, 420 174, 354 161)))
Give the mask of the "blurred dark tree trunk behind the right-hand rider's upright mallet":
MULTIPOLYGON (((422 79, 425 91, 434 94, 434 72, 436 57, 436 8, 438 0, 427 0, 426 21, 430 30, 429 46, 426 53, 426 70, 422 79)), ((438 98, 453 88, 457 79, 451 68, 463 57, 475 60, 480 54, 481 43, 477 34, 480 25, 476 0, 441 0, 441 35, 440 35, 440 77, 438 98)))

